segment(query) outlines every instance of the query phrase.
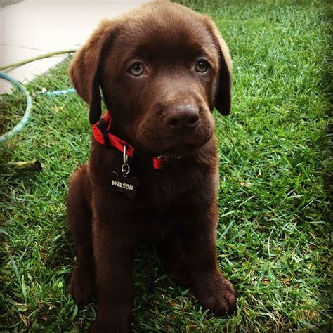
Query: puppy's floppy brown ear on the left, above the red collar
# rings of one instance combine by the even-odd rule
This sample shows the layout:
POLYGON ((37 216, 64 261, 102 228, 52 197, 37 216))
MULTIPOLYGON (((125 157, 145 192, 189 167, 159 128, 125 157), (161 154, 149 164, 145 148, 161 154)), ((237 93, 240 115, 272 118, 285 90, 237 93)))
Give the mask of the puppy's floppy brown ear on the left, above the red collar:
POLYGON ((101 115, 100 61, 115 37, 115 20, 103 20, 88 41, 79 48, 70 64, 70 78, 77 93, 89 104, 89 122, 101 115))

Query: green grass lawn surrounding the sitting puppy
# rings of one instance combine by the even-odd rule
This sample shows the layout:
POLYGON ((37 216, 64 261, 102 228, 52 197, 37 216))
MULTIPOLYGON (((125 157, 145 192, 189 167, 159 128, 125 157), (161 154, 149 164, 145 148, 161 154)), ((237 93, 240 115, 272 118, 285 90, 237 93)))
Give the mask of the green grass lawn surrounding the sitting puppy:
MULTIPOLYGON (((233 57, 233 112, 216 113, 221 150, 218 260, 238 311, 214 318, 138 252, 136 332, 331 332, 329 313, 329 11, 323 1, 183 1, 211 15, 233 57), (204 2, 204 4, 203 4, 204 2)), ((331 45, 332 46, 332 45, 331 45)), ((87 107, 67 89, 65 62, 27 85, 27 127, 1 147, 0 331, 77 332, 96 304, 68 294, 74 263, 65 200, 89 157, 87 107), (43 171, 8 162, 38 159, 43 171)), ((1 133, 24 98, 1 100, 1 133)), ((332 273, 332 272, 331 272, 332 273)))

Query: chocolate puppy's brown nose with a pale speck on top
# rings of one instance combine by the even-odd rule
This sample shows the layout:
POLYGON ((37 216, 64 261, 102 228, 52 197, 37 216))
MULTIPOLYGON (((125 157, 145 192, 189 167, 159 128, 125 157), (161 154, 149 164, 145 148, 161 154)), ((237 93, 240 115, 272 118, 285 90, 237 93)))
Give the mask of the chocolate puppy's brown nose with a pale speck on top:
POLYGON ((194 105, 174 106, 166 110, 164 122, 171 129, 193 129, 199 120, 199 112, 194 105))

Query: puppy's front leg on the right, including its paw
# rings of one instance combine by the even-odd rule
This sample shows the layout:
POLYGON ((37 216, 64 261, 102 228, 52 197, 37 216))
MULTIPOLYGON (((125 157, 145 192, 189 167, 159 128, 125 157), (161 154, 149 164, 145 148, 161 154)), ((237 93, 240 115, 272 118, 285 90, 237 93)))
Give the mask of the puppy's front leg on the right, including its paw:
POLYGON ((191 207, 187 211, 184 247, 186 271, 203 308, 216 315, 233 313, 236 295, 233 285, 218 268, 216 258, 217 204, 191 207))

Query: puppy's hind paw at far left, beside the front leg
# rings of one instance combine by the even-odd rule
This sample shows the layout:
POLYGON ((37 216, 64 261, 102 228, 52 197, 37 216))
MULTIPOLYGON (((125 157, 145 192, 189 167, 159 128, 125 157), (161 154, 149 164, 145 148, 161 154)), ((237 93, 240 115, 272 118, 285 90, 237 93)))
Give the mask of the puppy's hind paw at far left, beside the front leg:
POLYGON ((96 277, 91 271, 87 272, 78 267, 74 268, 70 280, 70 294, 77 304, 92 301, 96 296, 96 277))

